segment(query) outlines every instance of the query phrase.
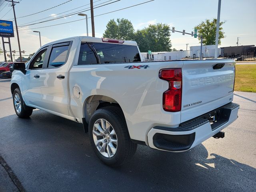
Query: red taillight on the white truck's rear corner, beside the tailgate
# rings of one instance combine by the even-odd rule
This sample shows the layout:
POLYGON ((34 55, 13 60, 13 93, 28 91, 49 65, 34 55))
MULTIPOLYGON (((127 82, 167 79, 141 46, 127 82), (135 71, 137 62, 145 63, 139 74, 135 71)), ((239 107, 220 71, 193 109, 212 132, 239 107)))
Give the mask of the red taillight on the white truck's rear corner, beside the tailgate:
POLYGON ((165 111, 178 112, 181 110, 182 71, 181 68, 162 69, 159 78, 169 82, 169 89, 163 94, 165 111))

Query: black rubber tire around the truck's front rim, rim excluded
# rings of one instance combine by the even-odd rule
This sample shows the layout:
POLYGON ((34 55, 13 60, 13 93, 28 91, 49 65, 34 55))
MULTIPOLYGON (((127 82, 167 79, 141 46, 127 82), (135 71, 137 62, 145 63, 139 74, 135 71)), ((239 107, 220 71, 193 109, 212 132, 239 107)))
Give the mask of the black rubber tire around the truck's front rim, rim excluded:
POLYGON ((26 104, 24 103, 24 100, 22 98, 21 92, 19 88, 16 88, 12 94, 12 101, 13 101, 13 106, 14 106, 14 110, 17 114, 18 117, 20 118, 28 118, 29 116, 31 116, 32 112, 33 112, 33 108, 26 106, 26 104), (20 98, 20 112, 18 112, 18 110, 15 107, 15 96, 16 94, 18 94, 19 98, 20 98))

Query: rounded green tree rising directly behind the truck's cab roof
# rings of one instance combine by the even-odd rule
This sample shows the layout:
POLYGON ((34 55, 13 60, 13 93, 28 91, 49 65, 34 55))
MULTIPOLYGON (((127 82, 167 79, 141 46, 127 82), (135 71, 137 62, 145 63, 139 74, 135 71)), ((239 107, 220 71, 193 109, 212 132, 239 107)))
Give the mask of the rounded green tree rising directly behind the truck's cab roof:
POLYGON ((120 40, 132 40, 134 38, 134 28, 128 19, 118 18, 116 21, 111 19, 106 25, 106 30, 103 37, 120 40))

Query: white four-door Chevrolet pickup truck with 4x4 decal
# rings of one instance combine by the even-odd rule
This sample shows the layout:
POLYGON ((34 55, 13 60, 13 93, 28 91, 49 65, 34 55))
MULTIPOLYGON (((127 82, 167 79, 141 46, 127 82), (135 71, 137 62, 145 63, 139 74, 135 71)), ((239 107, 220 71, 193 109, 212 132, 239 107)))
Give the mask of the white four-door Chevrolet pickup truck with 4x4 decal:
POLYGON ((73 37, 14 64, 11 92, 20 118, 38 108, 82 123, 96 155, 120 166, 137 144, 183 152, 238 118, 235 62, 142 62, 136 42, 73 37))

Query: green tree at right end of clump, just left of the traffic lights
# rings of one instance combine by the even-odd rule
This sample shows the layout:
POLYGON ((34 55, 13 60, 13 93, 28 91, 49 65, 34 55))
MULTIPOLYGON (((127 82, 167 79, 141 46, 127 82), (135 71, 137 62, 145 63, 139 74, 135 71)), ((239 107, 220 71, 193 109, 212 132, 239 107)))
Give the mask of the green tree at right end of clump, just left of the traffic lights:
POLYGON ((149 25, 146 28, 149 50, 152 50, 152 52, 171 51, 170 35, 170 26, 166 24, 149 25))

